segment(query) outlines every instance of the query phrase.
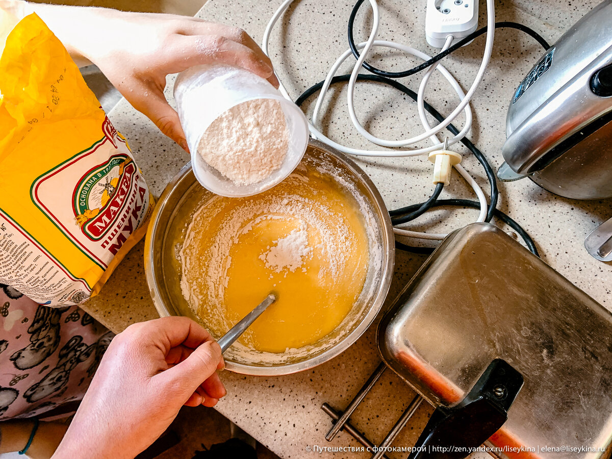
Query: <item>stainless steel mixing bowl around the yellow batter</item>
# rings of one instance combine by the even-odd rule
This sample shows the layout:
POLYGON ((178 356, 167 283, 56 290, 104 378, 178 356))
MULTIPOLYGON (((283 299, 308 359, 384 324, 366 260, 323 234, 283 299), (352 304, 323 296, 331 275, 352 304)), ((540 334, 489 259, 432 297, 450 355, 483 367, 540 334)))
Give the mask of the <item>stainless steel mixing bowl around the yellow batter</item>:
MULTIPOLYGON (((332 176, 340 173, 341 179, 348 182, 368 209, 370 263, 362 294, 348 316, 329 335, 312 346, 303 348, 304 355, 289 356, 283 360, 278 354, 274 362, 257 359, 245 360, 244 356, 234 356, 230 351, 224 354, 226 368, 245 375, 287 375, 307 370, 337 356, 352 345, 376 318, 389 290, 393 274, 395 245, 389 213, 375 185, 370 178, 345 155, 329 146, 314 140, 308 143, 304 161, 324 165, 324 170, 332 176), (328 169, 329 168, 329 169, 328 169), (377 253, 378 256, 374 256, 377 253)), ((321 168, 319 167, 320 171, 321 168)), ((177 235, 184 234, 185 212, 193 206, 194 196, 201 197, 210 193, 196 181, 187 163, 166 186, 157 201, 144 248, 144 269, 151 297, 159 315, 184 315, 195 319, 206 327, 205 318, 196 318, 182 297, 180 288, 181 269, 177 259, 177 235), (183 232, 183 233, 181 233, 183 232)), ((365 217, 364 217, 365 218, 365 217)), ((219 337, 217 337, 219 338, 219 337)))

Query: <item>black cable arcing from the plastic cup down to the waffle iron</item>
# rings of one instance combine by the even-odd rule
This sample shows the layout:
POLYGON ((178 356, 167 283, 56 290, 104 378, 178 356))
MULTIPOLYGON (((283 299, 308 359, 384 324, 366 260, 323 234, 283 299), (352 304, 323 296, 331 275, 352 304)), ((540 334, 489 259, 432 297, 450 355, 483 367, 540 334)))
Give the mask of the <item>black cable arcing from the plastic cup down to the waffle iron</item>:
MULTIPOLYGON (((345 82, 345 81, 348 81, 349 78, 351 78, 351 75, 334 76, 330 84, 345 82)), ((389 86, 392 86, 393 88, 398 89, 404 94, 408 95, 408 97, 411 97, 412 100, 417 100, 416 92, 412 91, 412 89, 408 88, 404 84, 401 84, 399 81, 390 80, 389 78, 384 78, 383 76, 378 76, 378 75, 357 75, 357 81, 374 81, 376 83, 388 84, 389 86)), ((319 83, 316 83, 310 88, 308 88, 306 91, 302 93, 302 95, 300 95, 297 98, 296 105, 301 106, 302 103, 304 103, 305 100, 308 99, 308 97, 315 94, 322 87, 323 87, 323 81, 319 81, 319 83)), ((442 114, 439 113, 438 110, 433 108, 433 106, 431 106, 427 102, 424 102, 424 106, 425 106, 425 110, 427 110, 435 119, 437 119, 438 122, 444 121, 444 116, 442 116, 442 114)), ((457 135, 459 133, 459 130, 452 124, 449 124, 446 129, 448 129, 450 133, 452 133, 452 135, 457 135)), ((495 171, 493 171, 493 168, 491 168, 491 165, 488 163, 487 158, 485 158, 485 155, 483 155, 482 152, 476 147, 476 145, 474 145, 468 138, 464 137, 460 141, 469 149, 469 151, 471 151, 474 154, 476 159, 480 162, 480 164, 485 169, 485 174, 487 174, 487 179, 491 187, 491 190, 490 190, 491 197, 490 197, 489 206, 487 209, 487 217, 485 218, 485 222, 490 222, 491 219, 493 218, 493 211, 495 210, 495 207, 497 207, 498 196, 499 196, 498 187, 497 187, 497 179, 495 177, 495 171)), ((406 207, 403 207, 401 209, 395 209, 394 211, 390 211, 389 213, 390 214, 392 213, 392 215, 395 217, 398 215, 407 214, 408 212, 409 211, 406 211, 406 207)))

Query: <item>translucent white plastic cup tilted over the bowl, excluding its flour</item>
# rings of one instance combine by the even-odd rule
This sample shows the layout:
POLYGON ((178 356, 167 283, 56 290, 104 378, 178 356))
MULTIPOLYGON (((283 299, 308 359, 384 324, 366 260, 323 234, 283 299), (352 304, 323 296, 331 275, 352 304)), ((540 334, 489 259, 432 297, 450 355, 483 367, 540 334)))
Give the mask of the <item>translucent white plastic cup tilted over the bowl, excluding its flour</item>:
POLYGON ((308 122, 302 110, 266 80, 247 70, 230 65, 196 65, 177 77, 174 99, 191 152, 193 173, 203 187, 218 195, 251 196, 274 187, 296 168, 308 146, 308 122), (209 165, 198 147, 215 119, 234 106, 255 99, 278 101, 287 125, 288 147, 280 167, 261 181, 240 184, 209 165))

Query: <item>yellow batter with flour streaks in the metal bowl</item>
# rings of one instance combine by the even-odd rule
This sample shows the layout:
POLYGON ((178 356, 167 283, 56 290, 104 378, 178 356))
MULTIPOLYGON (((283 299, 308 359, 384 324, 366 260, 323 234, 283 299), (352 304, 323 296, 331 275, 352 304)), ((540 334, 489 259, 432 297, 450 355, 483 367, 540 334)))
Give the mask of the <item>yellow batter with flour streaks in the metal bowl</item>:
POLYGON ((183 295, 217 337, 277 294, 240 341, 281 353, 341 323, 364 286, 369 253, 353 196, 302 163, 271 190, 202 203, 180 258, 183 295))

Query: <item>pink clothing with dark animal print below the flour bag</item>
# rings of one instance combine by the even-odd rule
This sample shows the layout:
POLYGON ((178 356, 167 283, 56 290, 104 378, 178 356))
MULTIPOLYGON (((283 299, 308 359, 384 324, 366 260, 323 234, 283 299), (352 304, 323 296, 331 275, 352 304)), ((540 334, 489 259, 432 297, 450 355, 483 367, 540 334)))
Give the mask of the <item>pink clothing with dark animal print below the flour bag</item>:
POLYGON ((113 337, 78 306, 39 305, 0 284, 0 420, 81 400, 113 337))

